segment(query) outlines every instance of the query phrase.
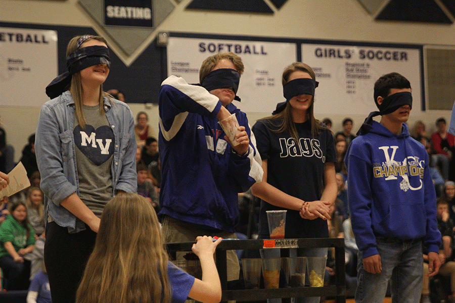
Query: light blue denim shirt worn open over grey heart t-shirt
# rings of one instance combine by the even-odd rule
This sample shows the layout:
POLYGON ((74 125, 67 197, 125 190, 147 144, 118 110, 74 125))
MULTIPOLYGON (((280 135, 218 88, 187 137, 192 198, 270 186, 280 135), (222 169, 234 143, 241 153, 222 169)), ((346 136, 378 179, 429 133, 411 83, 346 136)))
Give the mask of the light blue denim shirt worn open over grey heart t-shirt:
MULTIPOLYGON (((134 119, 128 106, 104 97, 106 117, 114 132, 115 148, 111 166, 113 195, 116 190, 137 192, 134 119)), ((73 136, 75 105, 71 93, 64 92, 41 107, 36 128, 35 153, 48 215, 69 233, 85 229, 85 224, 60 206, 63 199, 79 194, 79 178, 73 136), (52 201, 52 203, 50 203, 52 201)))

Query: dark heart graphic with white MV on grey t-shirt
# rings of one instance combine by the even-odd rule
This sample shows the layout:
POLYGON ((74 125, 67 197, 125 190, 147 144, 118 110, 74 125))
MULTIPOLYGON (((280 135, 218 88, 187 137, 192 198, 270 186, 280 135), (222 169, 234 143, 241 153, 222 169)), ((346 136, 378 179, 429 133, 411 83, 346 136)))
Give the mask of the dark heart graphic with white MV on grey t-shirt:
POLYGON ((73 135, 77 148, 95 165, 105 163, 114 154, 114 132, 107 125, 97 129, 89 124, 85 125, 85 129, 77 125, 73 135))

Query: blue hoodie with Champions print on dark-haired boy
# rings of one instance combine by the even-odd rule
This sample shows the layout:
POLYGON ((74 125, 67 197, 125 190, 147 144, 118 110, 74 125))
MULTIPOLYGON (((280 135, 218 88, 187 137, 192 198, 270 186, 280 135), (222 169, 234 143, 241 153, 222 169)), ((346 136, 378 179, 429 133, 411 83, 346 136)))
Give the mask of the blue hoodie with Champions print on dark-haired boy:
POLYGON ((379 254, 376 236, 421 238, 428 251, 439 251, 428 154, 406 124, 395 135, 374 121, 369 133, 352 141, 345 163, 352 230, 363 258, 379 254))

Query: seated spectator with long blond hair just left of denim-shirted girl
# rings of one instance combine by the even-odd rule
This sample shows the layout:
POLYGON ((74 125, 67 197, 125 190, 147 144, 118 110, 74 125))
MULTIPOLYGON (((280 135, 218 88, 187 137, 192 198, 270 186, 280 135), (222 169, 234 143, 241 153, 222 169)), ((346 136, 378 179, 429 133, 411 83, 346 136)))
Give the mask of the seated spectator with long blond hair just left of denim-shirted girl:
POLYGON ((38 187, 30 187, 27 193, 27 218, 35 230, 35 238, 44 232, 44 194, 38 187))

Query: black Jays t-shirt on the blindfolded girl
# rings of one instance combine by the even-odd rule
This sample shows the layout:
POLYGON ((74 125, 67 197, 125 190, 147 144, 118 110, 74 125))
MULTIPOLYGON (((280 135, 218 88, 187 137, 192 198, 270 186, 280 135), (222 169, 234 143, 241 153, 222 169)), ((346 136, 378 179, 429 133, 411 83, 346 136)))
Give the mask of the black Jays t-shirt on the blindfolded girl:
MULTIPOLYGON (((321 129, 314 138, 311 136, 310 122, 296 123, 299 144, 288 131, 275 132, 279 120, 259 120, 252 131, 262 160, 267 159, 267 183, 283 192, 304 201, 321 198, 324 185, 324 165, 337 162, 332 132, 321 129)), ((268 238, 266 211, 281 210, 261 200, 259 215, 259 236, 268 238)), ((286 238, 329 237, 327 222, 321 218, 302 219, 298 211, 287 210, 286 238)))

